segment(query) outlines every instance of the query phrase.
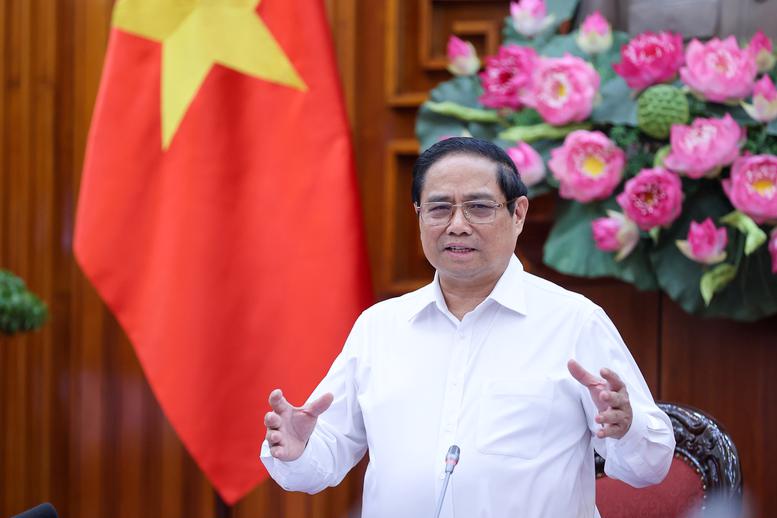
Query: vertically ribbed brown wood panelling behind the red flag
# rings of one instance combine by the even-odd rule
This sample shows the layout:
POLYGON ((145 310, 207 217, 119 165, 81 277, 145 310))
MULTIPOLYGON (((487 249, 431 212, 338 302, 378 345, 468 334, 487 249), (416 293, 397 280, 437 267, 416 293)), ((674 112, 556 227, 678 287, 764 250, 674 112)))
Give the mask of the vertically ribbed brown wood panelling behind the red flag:
MULTIPOLYGON (((234 509, 219 505, 73 260, 80 171, 113 3, 0 5, 0 266, 22 275, 51 312, 43 330, 0 338, 0 516, 44 500, 61 516, 354 515, 363 466, 352 483, 315 497, 268 482, 234 509)), ((327 1, 349 112, 355 6, 327 1)))

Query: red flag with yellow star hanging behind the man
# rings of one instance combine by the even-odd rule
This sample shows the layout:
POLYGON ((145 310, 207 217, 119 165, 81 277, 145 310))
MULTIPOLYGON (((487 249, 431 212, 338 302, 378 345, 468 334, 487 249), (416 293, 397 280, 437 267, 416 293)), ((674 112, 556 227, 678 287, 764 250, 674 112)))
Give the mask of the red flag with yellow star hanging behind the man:
POLYGON ((116 4, 75 254, 228 503, 372 299, 348 135, 322 2, 116 4))

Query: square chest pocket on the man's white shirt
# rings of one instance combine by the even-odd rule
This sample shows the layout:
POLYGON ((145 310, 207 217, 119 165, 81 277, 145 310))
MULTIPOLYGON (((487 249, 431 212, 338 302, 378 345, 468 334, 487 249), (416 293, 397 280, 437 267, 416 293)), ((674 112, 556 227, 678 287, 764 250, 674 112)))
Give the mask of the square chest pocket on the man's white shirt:
POLYGON ((477 449, 522 459, 539 455, 553 390, 553 382, 547 378, 487 381, 480 397, 477 449))

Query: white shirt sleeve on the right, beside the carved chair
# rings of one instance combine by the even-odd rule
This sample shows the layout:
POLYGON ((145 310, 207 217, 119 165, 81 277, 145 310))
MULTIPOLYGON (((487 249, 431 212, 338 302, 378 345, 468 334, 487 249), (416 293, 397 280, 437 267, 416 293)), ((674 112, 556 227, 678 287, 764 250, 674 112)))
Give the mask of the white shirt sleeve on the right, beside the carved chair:
POLYGON ((634 358, 601 308, 597 307, 583 324, 577 341, 576 359, 597 376, 603 367, 614 371, 625 383, 629 394, 633 411, 629 430, 620 439, 600 439, 595 434, 601 425, 594 421, 598 410, 588 389, 580 385, 593 446, 605 458, 607 476, 634 487, 657 484, 663 480, 674 454, 672 423, 656 406, 634 358))

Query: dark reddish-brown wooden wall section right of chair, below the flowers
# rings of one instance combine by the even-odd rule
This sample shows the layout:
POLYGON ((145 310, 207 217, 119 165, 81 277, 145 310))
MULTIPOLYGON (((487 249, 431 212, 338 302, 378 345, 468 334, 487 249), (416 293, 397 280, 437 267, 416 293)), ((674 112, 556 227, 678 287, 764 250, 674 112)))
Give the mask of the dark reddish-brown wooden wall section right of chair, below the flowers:
POLYGON ((777 515, 777 317, 691 318, 664 305, 661 397, 694 405, 731 434, 758 516, 777 515))

